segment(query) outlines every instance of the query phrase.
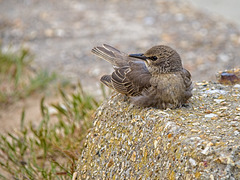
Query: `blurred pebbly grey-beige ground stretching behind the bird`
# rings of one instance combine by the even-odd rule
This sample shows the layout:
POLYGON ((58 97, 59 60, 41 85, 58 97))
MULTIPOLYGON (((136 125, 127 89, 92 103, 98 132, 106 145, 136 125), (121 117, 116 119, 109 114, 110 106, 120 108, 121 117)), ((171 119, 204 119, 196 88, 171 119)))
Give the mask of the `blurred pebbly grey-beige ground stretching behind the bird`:
POLYGON ((156 44, 175 48, 193 80, 214 80, 219 70, 239 66, 240 30, 234 24, 174 0, 1 0, 3 48, 28 47, 35 66, 75 82, 92 93, 111 66, 94 57, 93 46, 108 43, 127 53, 156 44))

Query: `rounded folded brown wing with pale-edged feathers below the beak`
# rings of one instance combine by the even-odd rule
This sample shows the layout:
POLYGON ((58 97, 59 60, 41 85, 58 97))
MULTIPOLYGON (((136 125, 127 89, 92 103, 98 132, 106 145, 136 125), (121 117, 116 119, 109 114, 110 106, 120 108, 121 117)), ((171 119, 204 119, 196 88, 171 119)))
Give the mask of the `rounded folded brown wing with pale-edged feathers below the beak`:
POLYGON ((131 62, 128 67, 116 69, 111 81, 116 91, 129 96, 141 95, 150 86, 151 74, 142 62, 131 62))

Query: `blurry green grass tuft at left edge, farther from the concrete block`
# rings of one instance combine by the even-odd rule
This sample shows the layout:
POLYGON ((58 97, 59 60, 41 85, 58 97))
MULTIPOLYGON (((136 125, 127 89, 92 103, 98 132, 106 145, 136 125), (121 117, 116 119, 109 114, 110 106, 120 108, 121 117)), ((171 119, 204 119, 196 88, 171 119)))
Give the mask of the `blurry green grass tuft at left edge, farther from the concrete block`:
POLYGON ((4 52, 0 47, 0 105, 25 98, 44 89, 56 74, 31 68, 33 55, 28 49, 4 52))

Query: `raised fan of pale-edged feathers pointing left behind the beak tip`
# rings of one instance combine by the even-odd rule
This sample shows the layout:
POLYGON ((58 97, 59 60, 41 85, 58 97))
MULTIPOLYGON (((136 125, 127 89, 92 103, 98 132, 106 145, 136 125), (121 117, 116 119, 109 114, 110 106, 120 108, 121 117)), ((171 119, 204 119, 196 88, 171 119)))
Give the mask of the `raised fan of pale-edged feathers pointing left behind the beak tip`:
POLYGON ((118 49, 107 44, 103 44, 103 46, 94 47, 91 52, 96 56, 111 63, 116 69, 128 66, 129 61, 135 60, 134 58, 128 57, 126 53, 121 52, 118 49))

